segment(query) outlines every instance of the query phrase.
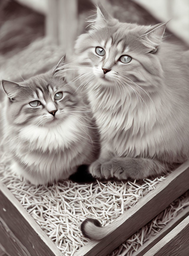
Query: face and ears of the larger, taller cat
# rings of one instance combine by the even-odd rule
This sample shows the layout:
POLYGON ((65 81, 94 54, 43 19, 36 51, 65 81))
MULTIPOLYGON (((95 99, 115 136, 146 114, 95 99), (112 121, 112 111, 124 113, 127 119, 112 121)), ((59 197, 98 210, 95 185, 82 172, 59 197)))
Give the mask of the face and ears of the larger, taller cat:
MULTIPOLYGON (((165 24, 154 27, 120 23, 101 7, 92 28, 81 35, 75 50, 78 65, 102 85, 156 86, 162 75, 157 47, 165 24)), ((89 79, 88 79, 89 81, 89 79)), ((131 89, 131 88, 130 88, 131 89)))

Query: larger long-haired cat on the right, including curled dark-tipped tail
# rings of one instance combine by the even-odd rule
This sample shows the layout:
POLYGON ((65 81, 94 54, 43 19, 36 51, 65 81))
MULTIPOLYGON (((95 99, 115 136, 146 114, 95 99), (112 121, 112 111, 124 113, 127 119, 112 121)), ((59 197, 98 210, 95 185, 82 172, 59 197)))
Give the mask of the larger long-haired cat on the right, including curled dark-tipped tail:
MULTIPOLYGON (((189 51, 164 41, 167 23, 121 23, 101 4, 75 44, 75 65, 100 132, 98 179, 141 180, 162 175, 189 156, 189 51)), ((107 228, 82 223, 102 239, 107 228)))

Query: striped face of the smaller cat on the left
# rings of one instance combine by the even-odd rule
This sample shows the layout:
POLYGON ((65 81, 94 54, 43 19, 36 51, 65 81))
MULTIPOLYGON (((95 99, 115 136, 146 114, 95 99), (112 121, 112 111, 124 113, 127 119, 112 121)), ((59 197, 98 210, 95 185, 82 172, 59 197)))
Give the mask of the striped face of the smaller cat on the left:
POLYGON ((58 76, 59 69, 14 83, 2 80, 7 101, 6 115, 17 125, 51 126, 71 115, 78 104, 75 88, 58 76), (57 72, 57 73, 56 73, 57 72))

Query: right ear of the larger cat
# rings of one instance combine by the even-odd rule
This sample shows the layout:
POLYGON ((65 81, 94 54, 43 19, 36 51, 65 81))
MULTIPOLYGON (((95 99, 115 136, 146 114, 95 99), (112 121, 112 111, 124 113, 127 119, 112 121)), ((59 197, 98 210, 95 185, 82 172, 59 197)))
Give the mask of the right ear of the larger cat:
POLYGON ((150 49, 156 49, 163 40, 166 25, 167 22, 150 27, 145 34, 141 36, 142 43, 150 49))

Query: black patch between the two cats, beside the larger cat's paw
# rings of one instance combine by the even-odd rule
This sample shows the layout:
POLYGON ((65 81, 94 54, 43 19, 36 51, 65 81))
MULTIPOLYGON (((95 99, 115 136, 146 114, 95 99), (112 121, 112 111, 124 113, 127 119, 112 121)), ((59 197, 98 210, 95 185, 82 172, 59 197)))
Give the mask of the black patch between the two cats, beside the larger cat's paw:
POLYGON ((92 183, 95 182, 96 179, 92 177, 89 173, 89 166, 88 165, 81 165, 77 168, 77 172, 72 174, 69 179, 77 182, 77 183, 92 183))

